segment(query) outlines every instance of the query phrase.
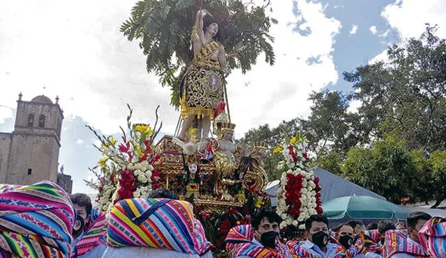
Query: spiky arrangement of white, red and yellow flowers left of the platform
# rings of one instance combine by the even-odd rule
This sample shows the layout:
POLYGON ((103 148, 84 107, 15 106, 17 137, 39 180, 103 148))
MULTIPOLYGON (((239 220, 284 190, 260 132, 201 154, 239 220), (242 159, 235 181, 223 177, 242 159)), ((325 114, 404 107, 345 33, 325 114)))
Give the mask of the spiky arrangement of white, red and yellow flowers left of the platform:
POLYGON ((132 124, 132 108, 127 117, 128 131, 122 127, 122 143, 117 143, 112 136, 99 135, 87 126, 100 140, 101 145, 94 145, 104 156, 91 172, 96 179, 86 184, 99 191, 98 209, 107 211, 116 202, 132 197, 148 197, 152 190, 160 187, 160 172, 151 164, 159 159, 153 152, 153 140, 162 127, 153 129, 149 124, 132 124))

